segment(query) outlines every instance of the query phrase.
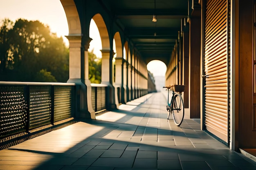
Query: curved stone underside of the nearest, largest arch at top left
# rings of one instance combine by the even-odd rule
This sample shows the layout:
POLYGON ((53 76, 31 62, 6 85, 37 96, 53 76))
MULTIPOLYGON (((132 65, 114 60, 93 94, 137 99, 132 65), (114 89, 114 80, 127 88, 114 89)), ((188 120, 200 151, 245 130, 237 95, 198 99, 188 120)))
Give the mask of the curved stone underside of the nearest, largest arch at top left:
POLYGON ((74 0, 61 0, 61 4, 67 16, 69 35, 81 35, 80 18, 74 0))

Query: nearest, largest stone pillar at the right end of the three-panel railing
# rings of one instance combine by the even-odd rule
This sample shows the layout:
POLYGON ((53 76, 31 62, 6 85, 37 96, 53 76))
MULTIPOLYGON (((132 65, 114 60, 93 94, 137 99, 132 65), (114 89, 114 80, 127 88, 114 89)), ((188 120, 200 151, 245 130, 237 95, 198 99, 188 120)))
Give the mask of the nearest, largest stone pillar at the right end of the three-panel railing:
MULTIPOLYGON (((91 88, 86 86, 87 80, 85 79, 85 68, 86 56, 88 57, 88 51, 85 52, 86 46, 89 45, 91 39, 88 38, 85 41, 86 45, 82 45, 82 36, 79 35, 68 35, 66 36, 70 43, 70 78, 68 83, 76 84, 76 118, 91 118, 95 119, 95 113, 92 109, 91 104, 91 88), (86 82, 86 83, 85 83, 86 82)), ((88 48, 87 48, 88 49, 88 48)))

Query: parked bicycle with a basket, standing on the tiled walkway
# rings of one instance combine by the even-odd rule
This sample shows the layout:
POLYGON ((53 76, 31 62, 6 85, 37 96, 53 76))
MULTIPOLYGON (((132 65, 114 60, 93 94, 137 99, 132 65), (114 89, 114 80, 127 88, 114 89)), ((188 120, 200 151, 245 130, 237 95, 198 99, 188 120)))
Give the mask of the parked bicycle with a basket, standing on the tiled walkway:
POLYGON ((186 85, 172 85, 172 86, 163 87, 163 88, 167 88, 166 90, 168 90, 166 110, 169 114, 167 119, 169 119, 170 114, 172 113, 173 121, 177 126, 180 126, 184 119, 184 102, 181 94, 182 92, 185 91, 185 87, 186 85), (172 91, 173 93, 170 103, 169 103, 169 91, 172 91))

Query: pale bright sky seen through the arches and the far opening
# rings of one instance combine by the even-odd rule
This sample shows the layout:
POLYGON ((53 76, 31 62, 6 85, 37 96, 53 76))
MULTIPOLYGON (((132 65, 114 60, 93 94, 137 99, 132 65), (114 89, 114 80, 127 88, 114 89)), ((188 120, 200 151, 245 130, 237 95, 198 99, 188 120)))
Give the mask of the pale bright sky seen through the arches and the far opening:
MULTIPOLYGON (((26 20, 39 20, 49 26, 52 33, 62 36, 68 46, 68 25, 65 11, 60 0, 0 0, 0 21, 9 18, 13 22, 19 18, 26 20)), ((90 48, 94 50, 95 55, 101 57, 101 39, 96 24, 92 21, 90 24, 90 48)), ((150 62, 148 70, 154 76, 164 76, 166 65, 163 62, 150 62)))

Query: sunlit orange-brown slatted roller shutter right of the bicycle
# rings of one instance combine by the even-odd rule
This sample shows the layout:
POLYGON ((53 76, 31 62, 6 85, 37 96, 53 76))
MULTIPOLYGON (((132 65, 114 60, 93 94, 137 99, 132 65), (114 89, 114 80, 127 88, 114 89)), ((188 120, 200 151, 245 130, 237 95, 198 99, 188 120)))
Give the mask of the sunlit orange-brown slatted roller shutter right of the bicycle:
POLYGON ((205 127, 228 142, 227 0, 207 0, 205 13, 205 127))

